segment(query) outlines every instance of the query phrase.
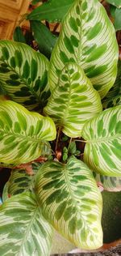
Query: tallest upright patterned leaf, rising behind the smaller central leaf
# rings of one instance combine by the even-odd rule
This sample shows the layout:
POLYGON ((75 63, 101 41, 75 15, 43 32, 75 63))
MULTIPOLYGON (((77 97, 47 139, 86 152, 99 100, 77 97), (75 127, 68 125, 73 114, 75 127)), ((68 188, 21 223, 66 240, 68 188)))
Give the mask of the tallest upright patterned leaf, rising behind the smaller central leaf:
POLYGON ((103 98, 116 77, 119 50, 115 29, 98 0, 76 0, 63 20, 49 69, 51 90, 66 62, 76 62, 103 98))

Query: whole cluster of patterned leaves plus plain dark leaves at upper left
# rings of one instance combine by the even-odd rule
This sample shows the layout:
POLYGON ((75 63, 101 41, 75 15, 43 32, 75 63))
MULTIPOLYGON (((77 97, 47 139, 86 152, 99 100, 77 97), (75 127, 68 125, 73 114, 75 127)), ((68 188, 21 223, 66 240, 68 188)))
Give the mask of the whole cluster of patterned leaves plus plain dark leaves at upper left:
MULTIPOLYGON (((0 251, 49 256, 52 227, 81 249, 97 249, 96 181, 119 190, 121 179, 115 29, 98 0, 49 0, 27 19, 41 53, 0 41, 0 166, 12 169, 0 207, 0 251), (43 19, 63 19, 58 39, 43 19)), ((23 41, 21 32, 16 28, 16 41, 23 41)))

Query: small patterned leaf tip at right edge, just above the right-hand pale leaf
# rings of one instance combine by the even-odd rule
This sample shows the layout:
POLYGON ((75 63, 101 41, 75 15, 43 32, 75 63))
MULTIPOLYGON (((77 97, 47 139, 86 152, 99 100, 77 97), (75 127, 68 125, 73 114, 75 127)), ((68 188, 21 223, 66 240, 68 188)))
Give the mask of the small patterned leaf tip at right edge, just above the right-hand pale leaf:
POLYGON ((102 103, 103 109, 108 109, 117 105, 121 105, 121 94, 111 99, 104 100, 102 103))

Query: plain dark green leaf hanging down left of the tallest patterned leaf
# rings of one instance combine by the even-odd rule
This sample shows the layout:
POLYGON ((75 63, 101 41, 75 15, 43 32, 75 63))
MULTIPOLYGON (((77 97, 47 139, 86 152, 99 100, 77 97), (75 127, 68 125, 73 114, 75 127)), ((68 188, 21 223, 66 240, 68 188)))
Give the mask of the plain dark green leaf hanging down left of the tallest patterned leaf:
POLYGON ((52 49, 56 43, 57 37, 49 31, 49 29, 40 21, 31 21, 31 29, 34 34, 35 41, 39 46, 40 53, 50 58, 52 49))

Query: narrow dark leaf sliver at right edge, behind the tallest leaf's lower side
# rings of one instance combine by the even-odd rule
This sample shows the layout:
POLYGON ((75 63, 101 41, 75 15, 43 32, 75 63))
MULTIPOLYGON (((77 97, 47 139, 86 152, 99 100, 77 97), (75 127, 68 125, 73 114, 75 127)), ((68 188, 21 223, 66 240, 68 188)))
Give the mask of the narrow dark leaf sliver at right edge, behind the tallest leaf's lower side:
POLYGON ((121 61, 118 62, 118 73, 115 83, 103 100, 113 100, 115 96, 119 95, 121 95, 121 61))

